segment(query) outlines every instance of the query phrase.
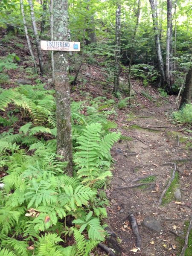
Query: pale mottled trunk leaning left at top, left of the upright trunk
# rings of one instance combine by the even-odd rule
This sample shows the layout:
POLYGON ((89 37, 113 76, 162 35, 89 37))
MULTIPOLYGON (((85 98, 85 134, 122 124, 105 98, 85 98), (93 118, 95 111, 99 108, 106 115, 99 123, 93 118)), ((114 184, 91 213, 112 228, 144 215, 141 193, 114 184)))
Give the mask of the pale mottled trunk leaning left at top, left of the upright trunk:
POLYGON ((163 58, 162 58, 162 52, 160 47, 160 40, 159 40, 159 29, 158 29, 158 20, 157 20, 157 10, 154 5, 154 0, 149 0, 151 5, 151 11, 152 11, 152 19, 153 19, 153 29, 154 29, 154 39, 155 39, 155 51, 157 55, 157 64, 159 67, 159 72, 161 76, 161 85, 165 86, 166 84, 166 78, 165 78, 165 72, 163 67, 163 58))

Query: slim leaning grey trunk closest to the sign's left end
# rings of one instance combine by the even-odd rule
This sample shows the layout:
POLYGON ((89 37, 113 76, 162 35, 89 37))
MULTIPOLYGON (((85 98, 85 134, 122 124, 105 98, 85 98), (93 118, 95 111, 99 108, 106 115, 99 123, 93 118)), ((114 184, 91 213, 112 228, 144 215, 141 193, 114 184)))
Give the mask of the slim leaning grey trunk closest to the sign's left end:
POLYGON ((37 30, 37 26, 36 26, 36 22, 35 22, 35 14, 34 14, 32 0, 28 0, 28 3, 29 3, 30 11, 31 11, 32 27, 33 27, 33 32, 35 35, 35 44, 36 44, 37 52, 38 52, 40 72, 41 72, 41 75, 43 75, 43 73, 44 73, 43 55, 41 52, 41 46, 40 46, 38 30, 37 30))

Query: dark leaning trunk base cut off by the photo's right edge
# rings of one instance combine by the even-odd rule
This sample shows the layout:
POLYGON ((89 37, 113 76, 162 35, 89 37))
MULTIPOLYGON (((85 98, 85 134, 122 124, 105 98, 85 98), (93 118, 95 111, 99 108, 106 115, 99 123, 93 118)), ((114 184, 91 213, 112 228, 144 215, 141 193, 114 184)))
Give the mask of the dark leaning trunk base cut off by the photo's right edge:
POLYGON ((186 76, 185 88, 183 90, 183 95, 181 98, 179 108, 182 108, 185 104, 190 104, 192 99, 192 66, 186 76))

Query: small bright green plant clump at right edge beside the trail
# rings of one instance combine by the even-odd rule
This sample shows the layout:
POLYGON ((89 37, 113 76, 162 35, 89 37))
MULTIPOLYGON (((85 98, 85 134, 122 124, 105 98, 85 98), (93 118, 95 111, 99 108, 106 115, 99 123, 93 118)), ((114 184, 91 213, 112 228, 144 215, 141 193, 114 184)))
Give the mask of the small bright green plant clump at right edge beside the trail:
POLYGON ((173 113, 174 119, 182 124, 192 124, 192 104, 186 104, 179 111, 173 113))

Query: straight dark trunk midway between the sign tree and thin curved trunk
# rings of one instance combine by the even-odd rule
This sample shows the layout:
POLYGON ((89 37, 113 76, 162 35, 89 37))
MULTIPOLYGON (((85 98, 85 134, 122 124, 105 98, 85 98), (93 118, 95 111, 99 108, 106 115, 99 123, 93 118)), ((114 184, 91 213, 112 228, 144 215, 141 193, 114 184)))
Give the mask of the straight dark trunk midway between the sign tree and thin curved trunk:
POLYGON ((119 76, 120 76, 120 68, 119 68, 119 61, 120 61, 120 54, 121 54, 121 47, 120 47, 120 32, 121 32, 121 6, 117 3, 116 9, 116 46, 115 46, 115 72, 114 72, 114 87, 113 93, 119 93, 119 76))

